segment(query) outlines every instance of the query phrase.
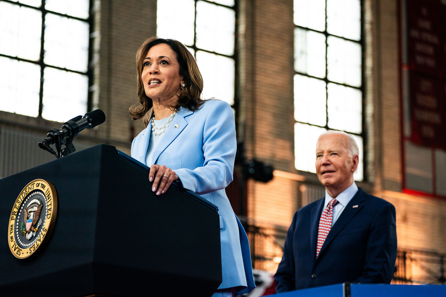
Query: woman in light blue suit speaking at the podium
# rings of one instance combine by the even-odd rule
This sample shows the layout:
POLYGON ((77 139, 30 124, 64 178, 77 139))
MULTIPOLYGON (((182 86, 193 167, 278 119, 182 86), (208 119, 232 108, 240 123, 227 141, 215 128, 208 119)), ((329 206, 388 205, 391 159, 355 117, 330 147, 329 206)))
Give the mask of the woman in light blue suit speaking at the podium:
POLYGON ((150 167, 152 191, 173 181, 219 207, 223 281, 213 296, 254 288, 248 237, 227 199, 236 151, 235 122, 226 102, 202 100, 203 79, 179 41, 151 37, 136 53, 138 105, 133 119, 146 128, 133 140, 132 157, 150 167))

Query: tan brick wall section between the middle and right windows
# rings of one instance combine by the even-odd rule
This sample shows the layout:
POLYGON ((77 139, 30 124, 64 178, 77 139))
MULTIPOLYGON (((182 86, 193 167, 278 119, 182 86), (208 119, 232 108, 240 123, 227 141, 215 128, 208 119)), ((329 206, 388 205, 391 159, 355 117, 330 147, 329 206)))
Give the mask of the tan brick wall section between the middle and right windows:
POLYGON ((242 134, 248 156, 293 171, 293 1, 241 1, 242 134))

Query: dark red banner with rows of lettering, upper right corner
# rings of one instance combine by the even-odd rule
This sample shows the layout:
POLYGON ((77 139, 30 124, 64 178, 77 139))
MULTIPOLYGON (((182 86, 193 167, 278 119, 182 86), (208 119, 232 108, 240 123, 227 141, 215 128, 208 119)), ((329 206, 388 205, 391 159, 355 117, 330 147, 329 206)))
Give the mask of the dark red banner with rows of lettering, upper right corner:
POLYGON ((411 141, 446 149, 446 5, 406 0, 411 141))

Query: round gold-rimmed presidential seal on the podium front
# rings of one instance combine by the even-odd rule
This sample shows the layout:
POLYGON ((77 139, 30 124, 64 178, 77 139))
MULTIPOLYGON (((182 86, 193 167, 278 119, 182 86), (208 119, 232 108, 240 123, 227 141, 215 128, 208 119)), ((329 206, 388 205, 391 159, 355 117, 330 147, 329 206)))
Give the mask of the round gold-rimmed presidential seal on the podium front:
POLYGON ((9 218, 8 242, 20 259, 31 256, 46 244, 57 214, 57 194, 53 184, 34 179, 21 191, 9 218))

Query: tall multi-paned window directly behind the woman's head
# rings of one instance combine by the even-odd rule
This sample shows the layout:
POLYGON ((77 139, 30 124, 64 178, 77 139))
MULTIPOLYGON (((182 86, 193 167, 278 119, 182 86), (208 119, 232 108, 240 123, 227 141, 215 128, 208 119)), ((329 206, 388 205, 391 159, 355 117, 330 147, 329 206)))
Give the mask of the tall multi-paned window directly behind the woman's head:
POLYGON ((235 0, 158 0, 157 36, 181 41, 194 55, 203 98, 234 106, 235 0))

